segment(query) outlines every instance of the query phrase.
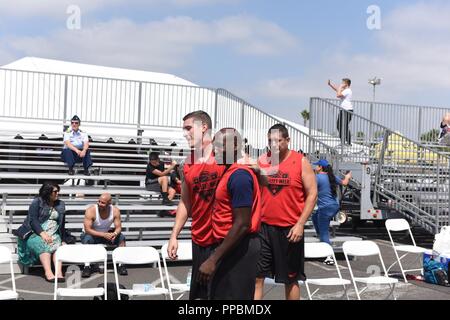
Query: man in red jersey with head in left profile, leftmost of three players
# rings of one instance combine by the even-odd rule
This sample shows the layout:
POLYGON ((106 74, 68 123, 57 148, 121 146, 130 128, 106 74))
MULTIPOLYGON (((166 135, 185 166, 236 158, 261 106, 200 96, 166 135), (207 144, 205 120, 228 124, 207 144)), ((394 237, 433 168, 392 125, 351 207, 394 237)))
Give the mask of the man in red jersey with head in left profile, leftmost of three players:
POLYGON ((224 166, 218 165, 213 155, 211 118, 203 111, 189 113, 183 118, 183 131, 192 154, 186 159, 182 171, 181 201, 178 204, 175 225, 170 236, 167 253, 176 260, 177 237, 188 216, 192 218, 192 277, 189 299, 207 299, 208 288, 198 280, 200 265, 214 248, 212 208, 214 193, 222 177, 224 166))

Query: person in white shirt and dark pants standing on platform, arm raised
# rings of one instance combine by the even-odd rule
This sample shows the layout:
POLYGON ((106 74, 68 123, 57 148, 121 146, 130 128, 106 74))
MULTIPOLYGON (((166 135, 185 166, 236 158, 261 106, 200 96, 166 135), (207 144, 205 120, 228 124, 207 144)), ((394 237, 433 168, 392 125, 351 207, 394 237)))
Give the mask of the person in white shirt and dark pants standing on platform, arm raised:
POLYGON ((341 142, 344 145, 352 145, 352 137, 350 133, 350 121, 352 121, 353 104, 352 104, 352 81, 350 79, 342 79, 341 85, 336 87, 328 80, 328 85, 336 91, 336 96, 341 100, 341 110, 339 111, 339 117, 337 121, 337 129, 341 142))

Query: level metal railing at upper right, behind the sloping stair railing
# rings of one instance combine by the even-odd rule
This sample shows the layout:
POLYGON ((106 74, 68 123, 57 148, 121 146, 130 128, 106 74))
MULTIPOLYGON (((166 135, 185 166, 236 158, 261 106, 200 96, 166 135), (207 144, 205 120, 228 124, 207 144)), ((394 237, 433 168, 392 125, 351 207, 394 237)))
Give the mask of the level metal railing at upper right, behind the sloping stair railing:
MULTIPOLYGON (((340 105, 338 99, 326 99, 340 105)), ((414 106, 396 103, 353 101, 354 112, 364 118, 382 124, 403 134, 405 137, 422 143, 437 143, 429 133, 439 129, 442 117, 450 108, 414 106)))

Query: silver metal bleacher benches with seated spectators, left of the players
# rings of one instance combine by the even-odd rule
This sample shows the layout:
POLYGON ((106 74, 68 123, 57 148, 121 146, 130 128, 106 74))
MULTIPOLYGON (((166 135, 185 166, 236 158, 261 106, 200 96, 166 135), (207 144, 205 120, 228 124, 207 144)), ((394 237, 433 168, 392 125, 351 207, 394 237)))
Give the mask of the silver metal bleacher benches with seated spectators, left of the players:
MULTIPOLYGON (((104 192, 111 193, 113 204, 121 210, 127 245, 158 248, 168 240, 174 218, 158 214, 176 209, 179 196, 175 198, 174 206, 162 205, 160 193, 145 189, 145 169, 149 152, 160 152, 162 160, 170 163, 184 159, 188 152, 186 146, 170 146, 173 141, 163 139, 157 142, 158 145, 145 141, 140 145, 91 142, 94 162, 91 175, 85 176, 78 170, 80 173, 70 176, 60 160, 61 139, 39 140, 40 133, 17 133, 26 138, 11 139, 14 135, 0 132, 1 245, 16 251, 17 239, 12 231, 22 224, 31 200, 44 181, 60 184, 60 199, 66 204, 66 228, 78 241, 86 208, 95 204, 104 192)), ((47 134, 61 138, 61 133, 47 134)), ((96 141, 96 137, 93 138, 96 141)), ((113 138, 116 141, 124 139, 113 138)), ((181 232, 180 239, 190 239, 190 222, 181 232)))

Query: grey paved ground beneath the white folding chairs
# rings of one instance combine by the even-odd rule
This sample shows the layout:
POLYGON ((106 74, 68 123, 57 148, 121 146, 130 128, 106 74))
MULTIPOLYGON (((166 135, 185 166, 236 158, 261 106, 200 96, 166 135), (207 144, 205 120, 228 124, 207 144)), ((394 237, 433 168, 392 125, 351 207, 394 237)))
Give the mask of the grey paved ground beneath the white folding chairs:
MULTIPOLYGON (((367 238, 367 237, 366 237, 367 238)), ((386 266, 388 267, 395 261, 394 251, 390 242, 386 240, 375 240, 381 249, 381 253, 386 266)), ((338 264, 340 266, 342 276, 345 279, 350 279, 350 273, 346 261, 342 255, 337 257, 338 264)), ((406 263, 412 264, 418 268, 421 267, 421 261, 412 257, 407 259, 406 263)), ((378 275, 381 270, 381 266, 375 257, 358 258, 355 261, 351 261, 352 268, 356 276, 371 276, 378 275)), ((114 274, 112 266, 108 266, 108 281, 114 281, 114 274)), ((180 283, 186 281, 188 265, 173 265, 169 267, 171 275, 171 281, 174 283, 180 283)), ((334 267, 326 266, 321 260, 312 261, 308 260, 305 265, 305 272, 308 278, 319 277, 334 277, 337 275, 334 267)), ((394 271, 399 270, 398 267, 394 267, 394 271)), ((158 271, 155 268, 128 268, 128 276, 120 276, 119 281, 127 288, 131 288, 134 283, 153 283, 158 285, 160 283, 158 279, 158 271)), ((66 272, 67 282, 62 284, 63 287, 67 287, 72 283, 76 283, 81 279, 81 287, 96 287, 102 283, 103 275, 95 273, 89 279, 80 278, 80 271, 77 267, 71 267, 66 272), (75 270, 75 271, 73 271, 75 270)), ((43 272, 41 269, 32 269, 30 275, 16 275, 16 285, 20 297, 25 300, 51 300, 53 299, 53 283, 48 283, 43 278, 43 272)), ((0 276, 0 290, 10 288, 10 278, 7 275, 0 276)), ((361 288, 361 287, 360 287, 361 288)), ((313 289, 315 290, 315 289, 313 289)), ((267 284, 265 286, 264 299, 266 300, 283 300, 284 288, 283 286, 267 284)), ((427 284, 421 281, 410 281, 404 283, 403 280, 399 280, 399 284, 395 290, 396 296, 399 300, 450 300, 450 288, 441 287, 436 285, 427 284)), ((383 286, 371 286, 362 295, 363 299, 368 300, 382 300, 389 293, 388 287, 383 286)), ((340 299, 343 294, 342 287, 323 288, 316 294, 315 299, 319 300, 337 300, 340 299)), ((349 287, 348 294, 350 299, 356 299, 353 286, 349 287)), ((307 292, 302 285, 301 291, 302 299, 307 299, 307 292)), ((147 299, 147 298, 145 298, 147 299)), ((154 297, 152 299, 164 299, 163 297, 154 297)), ((187 299, 187 297, 184 297, 187 299)), ((140 300, 140 299, 139 299, 140 300)))

